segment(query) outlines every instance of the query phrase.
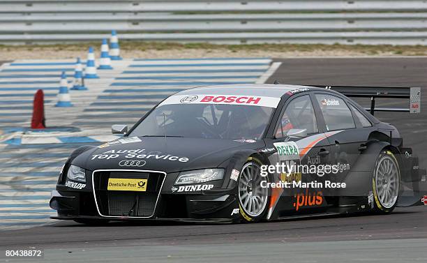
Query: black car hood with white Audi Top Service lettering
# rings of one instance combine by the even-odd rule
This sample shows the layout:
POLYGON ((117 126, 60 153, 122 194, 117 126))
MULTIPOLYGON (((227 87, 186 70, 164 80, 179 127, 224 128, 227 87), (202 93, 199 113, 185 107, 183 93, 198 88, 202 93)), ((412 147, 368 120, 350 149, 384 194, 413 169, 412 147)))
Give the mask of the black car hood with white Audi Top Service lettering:
POLYGON ((263 140, 183 137, 124 137, 85 151, 73 165, 87 170, 128 169, 179 172, 218 167, 239 150, 260 149, 263 140))

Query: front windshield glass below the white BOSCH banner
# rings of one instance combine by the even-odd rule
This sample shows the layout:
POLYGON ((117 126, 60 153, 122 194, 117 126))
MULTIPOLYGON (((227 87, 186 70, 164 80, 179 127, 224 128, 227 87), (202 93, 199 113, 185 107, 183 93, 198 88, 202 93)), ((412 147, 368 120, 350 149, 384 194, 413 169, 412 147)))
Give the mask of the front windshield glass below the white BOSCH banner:
POLYGON ((160 105, 129 136, 257 140, 267 128, 273 110, 252 105, 160 105))

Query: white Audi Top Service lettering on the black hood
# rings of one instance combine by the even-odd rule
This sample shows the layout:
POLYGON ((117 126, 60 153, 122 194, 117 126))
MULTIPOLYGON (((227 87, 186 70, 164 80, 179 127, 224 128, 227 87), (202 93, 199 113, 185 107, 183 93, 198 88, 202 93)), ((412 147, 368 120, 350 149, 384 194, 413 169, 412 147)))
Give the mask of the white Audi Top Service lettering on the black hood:
POLYGON ((181 163, 187 163, 187 157, 181 156, 171 156, 170 154, 162 154, 158 151, 146 153, 145 149, 132 149, 132 150, 110 150, 105 151, 103 153, 94 154, 91 160, 95 159, 105 159, 110 160, 114 158, 119 158, 123 156, 123 158, 137 158, 137 159, 156 159, 156 160, 178 160, 181 163))

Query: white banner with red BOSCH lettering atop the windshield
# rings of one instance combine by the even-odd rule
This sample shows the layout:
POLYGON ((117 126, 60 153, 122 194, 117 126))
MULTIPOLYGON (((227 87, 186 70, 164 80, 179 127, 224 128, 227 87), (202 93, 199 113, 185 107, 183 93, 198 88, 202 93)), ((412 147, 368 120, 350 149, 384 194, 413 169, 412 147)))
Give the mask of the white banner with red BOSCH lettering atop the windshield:
POLYGON ((163 100, 161 105, 168 104, 230 104, 230 105, 252 105, 262 107, 277 107, 280 98, 266 96, 239 96, 239 95, 175 95, 163 100))

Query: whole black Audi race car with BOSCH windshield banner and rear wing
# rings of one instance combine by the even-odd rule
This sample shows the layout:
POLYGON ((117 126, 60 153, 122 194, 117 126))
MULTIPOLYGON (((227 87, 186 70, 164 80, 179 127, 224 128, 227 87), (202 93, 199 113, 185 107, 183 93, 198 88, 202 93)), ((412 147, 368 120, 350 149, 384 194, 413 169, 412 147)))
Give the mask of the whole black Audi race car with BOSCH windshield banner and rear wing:
POLYGON ((76 149, 52 191, 52 218, 257 222, 421 205, 418 158, 373 117, 419 112, 419 98, 419 88, 181 91, 129 131, 112 126, 121 139, 76 149), (371 114, 347 96, 371 98, 371 114), (375 107, 375 98, 410 98, 410 107, 375 107))

